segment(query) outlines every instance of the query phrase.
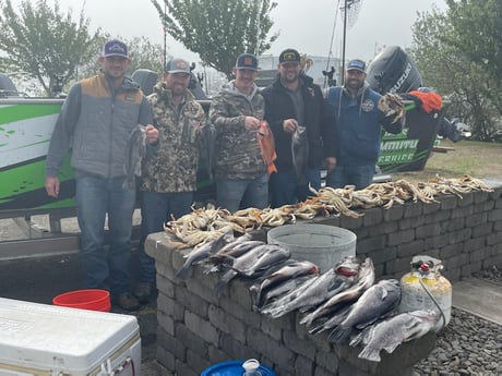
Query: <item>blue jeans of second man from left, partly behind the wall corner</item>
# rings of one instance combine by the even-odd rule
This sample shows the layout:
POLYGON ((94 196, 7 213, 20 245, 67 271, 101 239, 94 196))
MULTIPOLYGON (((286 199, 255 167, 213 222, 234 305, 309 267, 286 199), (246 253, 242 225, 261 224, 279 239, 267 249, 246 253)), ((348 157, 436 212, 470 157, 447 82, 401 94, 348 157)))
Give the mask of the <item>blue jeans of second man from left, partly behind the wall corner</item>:
POLYGON ((155 258, 145 253, 144 242, 148 234, 164 231, 164 222, 180 218, 191 211, 193 192, 142 192, 141 202, 141 242, 138 248, 140 256, 140 282, 155 284, 155 258))

